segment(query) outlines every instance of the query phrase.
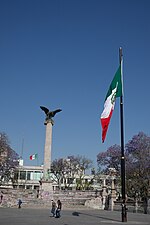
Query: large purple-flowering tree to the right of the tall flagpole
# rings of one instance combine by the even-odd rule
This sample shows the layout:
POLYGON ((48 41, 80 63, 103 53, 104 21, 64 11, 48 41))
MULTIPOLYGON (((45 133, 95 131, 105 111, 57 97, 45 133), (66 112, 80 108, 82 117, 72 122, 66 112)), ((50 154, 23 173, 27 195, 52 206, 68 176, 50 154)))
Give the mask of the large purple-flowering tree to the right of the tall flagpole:
POLYGON ((126 179, 128 194, 148 196, 150 188, 150 137, 143 132, 126 144, 126 179))

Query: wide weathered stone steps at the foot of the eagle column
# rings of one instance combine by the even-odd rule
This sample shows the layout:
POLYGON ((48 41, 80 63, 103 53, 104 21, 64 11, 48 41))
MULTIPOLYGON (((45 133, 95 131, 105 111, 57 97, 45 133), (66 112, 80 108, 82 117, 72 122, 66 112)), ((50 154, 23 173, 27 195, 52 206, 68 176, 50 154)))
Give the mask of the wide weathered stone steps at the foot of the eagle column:
POLYGON ((1 207, 17 207, 18 199, 21 199, 23 207, 44 207, 49 208, 51 206, 51 200, 54 199, 56 202, 58 199, 61 200, 63 207, 84 207, 86 200, 91 199, 88 196, 78 194, 76 192, 72 193, 44 193, 40 194, 37 198, 36 192, 24 191, 24 190, 5 190, 4 198, 1 207))

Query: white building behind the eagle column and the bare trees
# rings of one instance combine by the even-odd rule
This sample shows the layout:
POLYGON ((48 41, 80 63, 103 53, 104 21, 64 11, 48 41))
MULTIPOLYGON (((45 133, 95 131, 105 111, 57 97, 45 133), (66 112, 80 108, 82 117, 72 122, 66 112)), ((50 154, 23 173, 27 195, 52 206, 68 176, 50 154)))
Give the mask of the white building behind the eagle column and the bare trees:
MULTIPOLYGON (((19 161, 19 167, 14 173, 14 182, 13 187, 17 189, 41 189, 41 182, 43 177, 43 166, 24 166, 23 160, 19 161)), ((108 175, 101 175, 98 180, 94 178, 94 175, 86 175, 83 174, 82 177, 80 174, 76 174, 73 178, 64 177, 60 181, 60 185, 58 185, 57 180, 51 176, 52 178, 52 187, 53 190, 99 190, 102 191, 104 188, 110 189, 110 180, 111 177, 108 175)))

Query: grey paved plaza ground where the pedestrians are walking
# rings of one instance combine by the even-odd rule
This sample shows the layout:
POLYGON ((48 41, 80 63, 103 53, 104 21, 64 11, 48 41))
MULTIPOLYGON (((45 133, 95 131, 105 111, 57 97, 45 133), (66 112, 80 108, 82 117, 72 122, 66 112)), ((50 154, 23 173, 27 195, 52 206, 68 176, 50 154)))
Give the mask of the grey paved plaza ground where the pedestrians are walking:
POLYGON ((121 212, 104 210, 62 210, 61 218, 50 216, 48 209, 0 208, 1 225, 150 225, 150 215, 128 213, 121 222, 121 212))

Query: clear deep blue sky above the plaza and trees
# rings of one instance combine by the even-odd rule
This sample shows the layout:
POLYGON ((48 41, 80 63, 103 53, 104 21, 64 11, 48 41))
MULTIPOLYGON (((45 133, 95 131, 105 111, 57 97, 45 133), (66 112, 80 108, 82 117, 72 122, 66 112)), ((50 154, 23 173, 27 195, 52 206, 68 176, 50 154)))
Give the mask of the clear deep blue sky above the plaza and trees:
POLYGON ((149 0, 1 0, 0 132, 24 159, 43 163, 45 115, 54 117, 52 160, 120 145, 120 108, 102 143, 100 115, 123 51, 124 142, 150 135, 149 0))

